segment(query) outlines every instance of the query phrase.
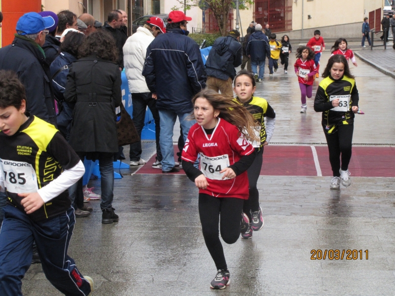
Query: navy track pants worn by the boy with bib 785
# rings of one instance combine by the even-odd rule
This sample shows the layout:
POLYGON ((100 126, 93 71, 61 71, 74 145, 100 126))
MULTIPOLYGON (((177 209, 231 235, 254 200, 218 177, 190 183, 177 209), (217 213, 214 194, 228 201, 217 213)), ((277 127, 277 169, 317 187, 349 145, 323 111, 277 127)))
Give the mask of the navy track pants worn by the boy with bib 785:
POLYGON ((0 232, 0 295, 22 296, 22 278, 32 263, 33 241, 48 281, 65 295, 88 295, 90 285, 67 255, 76 217, 69 208, 33 222, 14 206, 4 208, 0 232))

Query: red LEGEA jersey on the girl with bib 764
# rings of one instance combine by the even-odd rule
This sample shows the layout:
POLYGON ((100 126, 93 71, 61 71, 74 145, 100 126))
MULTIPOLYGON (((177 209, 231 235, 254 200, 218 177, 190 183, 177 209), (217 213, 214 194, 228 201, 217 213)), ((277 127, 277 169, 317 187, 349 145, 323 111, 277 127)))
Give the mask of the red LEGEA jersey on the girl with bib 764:
POLYGON ((194 124, 188 133, 182 152, 182 159, 194 163, 197 153, 200 154, 199 170, 206 177, 207 189, 199 189, 199 193, 215 197, 236 197, 248 199, 247 172, 234 179, 222 180, 224 173, 219 172, 233 165, 241 156, 254 151, 251 144, 240 136, 237 127, 228 121, 218 118, 212 135, 207 135, 203 127, 194 124))

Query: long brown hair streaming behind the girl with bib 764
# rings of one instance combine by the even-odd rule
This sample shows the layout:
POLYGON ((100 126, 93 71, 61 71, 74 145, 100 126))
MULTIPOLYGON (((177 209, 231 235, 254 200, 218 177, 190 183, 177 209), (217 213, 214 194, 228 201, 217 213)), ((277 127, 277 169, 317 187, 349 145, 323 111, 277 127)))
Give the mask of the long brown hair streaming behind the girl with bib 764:
POLYGON ((237 104, 233 98, 224 96, 209 89, 204 89, 199 92, 192 99, 192 104, 195 105, 198 98, 206 99, 214 110, 218 110, 220 112, 218 117, 235 125, 238 131, 243 134, 246 139, 259 141, 259 138, 254 132, 254 127, 258 126, 257 121, 251 113, 244 108, 244 106, 237 104))

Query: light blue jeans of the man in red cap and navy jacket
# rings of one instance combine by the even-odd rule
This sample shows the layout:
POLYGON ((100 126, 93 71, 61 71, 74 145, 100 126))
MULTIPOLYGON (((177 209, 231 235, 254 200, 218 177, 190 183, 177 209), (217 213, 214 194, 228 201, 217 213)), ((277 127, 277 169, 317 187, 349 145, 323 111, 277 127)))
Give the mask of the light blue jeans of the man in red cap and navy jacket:
POLYGON ((162 151, 162 171, 170 171, 174 165, 174 149, 173 149, 173 128, 177 116, 180 121, 184 141, 187 140, 189 129, 196 123, 196 120, 186 120, 191 112, 181 113, 171 110, 159 110, 160 117, 160 150, 162 151))

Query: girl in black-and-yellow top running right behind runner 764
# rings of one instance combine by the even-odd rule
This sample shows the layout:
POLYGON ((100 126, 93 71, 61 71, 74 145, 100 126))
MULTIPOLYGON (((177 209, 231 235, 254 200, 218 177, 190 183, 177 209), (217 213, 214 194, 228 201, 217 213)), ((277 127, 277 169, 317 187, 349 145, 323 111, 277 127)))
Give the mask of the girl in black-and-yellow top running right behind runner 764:
POLYGON ((263 227, 262 208, 259 206, 259 193, 256 184, 262 168, 263 148, 269 144, 276 123, 275 111, 265 99, 253 96, 255 89, 254 75, 241 70, 235 77, 234 91, 237 95, 235 101, 242 104, 260 124, 255 132, 260 141, 250 142, 256 151, 256 156, 252 165, 247 169, 249 198, 244 200, 243 213, 248 216, 251 223, 243 225, 247 226, 247 229, 241 229, 242 238, 252 238, 252 230, 258 231, 263 227))

